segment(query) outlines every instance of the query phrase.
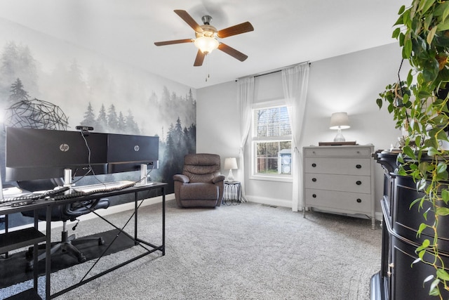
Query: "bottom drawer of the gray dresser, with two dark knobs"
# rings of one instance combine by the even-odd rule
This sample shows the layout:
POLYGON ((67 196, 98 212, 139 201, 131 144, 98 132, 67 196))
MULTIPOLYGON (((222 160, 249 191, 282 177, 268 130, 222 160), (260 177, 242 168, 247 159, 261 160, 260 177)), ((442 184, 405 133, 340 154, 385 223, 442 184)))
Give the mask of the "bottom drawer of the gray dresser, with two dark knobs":
POLYGON ((371 196, 369 194, 314 190, 306 188, 306 207, 326 210, 371 214, 371 196))

